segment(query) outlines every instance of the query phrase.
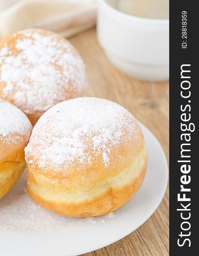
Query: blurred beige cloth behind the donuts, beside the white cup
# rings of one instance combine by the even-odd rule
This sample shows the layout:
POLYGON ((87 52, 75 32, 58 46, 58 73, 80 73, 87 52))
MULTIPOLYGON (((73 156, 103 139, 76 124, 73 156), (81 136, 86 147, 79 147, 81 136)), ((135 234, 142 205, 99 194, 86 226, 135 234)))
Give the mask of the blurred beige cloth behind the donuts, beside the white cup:
POLYGON ((95 26, 97 3, 98 0, 0 0, 0 38, 29 27, 49 29, 68 38, 95 26))

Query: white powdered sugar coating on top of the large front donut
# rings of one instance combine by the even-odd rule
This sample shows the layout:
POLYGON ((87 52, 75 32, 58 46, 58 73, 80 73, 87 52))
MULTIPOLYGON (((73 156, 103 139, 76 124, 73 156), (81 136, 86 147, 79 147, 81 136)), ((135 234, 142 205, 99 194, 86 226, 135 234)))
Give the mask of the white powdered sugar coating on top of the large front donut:
MULTIPOLYGON (((35 161, 45 172, 51 166, 56 171, 82 171, 92 166, 96 158, 109 166, 111 149, 130 139, 139 140, 138 125, 133 115, 115 102, 100 98, 77 98, 61 102, 41 116, 33 128, 25 148, 26 161, 35 161)), ((126 143, 126 144, 125 144, 126 143)), ((128 145, 126 145, 128 146, 128 145)), ((63 174, 64 175, 64 174, 63 174)))

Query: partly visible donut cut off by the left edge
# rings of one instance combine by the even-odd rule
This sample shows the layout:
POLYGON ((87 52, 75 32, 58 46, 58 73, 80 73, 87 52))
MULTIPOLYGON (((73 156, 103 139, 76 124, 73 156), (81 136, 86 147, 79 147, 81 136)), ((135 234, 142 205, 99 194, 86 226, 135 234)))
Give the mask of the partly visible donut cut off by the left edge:
POLYGON ((31 131, 28 117, 10 102, 0 99, 0 199, 26 167, 24 148, 31 131))

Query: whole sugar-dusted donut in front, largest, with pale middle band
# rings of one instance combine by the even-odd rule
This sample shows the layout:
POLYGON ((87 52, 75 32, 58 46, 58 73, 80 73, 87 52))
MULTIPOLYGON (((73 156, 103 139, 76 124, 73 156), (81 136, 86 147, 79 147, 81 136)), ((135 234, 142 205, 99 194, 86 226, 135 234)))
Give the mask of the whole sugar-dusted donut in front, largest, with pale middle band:
POLYGON ((105 215, 144 180, 147 154, 135 117, 106 99, 58 103, 40 117, 25 148, 27 188, 60 215, 105 215))

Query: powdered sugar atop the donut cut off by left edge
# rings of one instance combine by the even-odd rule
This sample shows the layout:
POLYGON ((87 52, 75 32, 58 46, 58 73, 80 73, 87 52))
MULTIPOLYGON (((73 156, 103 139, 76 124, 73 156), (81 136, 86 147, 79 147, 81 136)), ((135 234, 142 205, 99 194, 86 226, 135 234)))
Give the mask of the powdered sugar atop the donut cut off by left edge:
POLYGON ((28 140, 31 131, 28 117, 10 102, 0 99, 0 140, 9 140, 7 135, 14 133, 25 135, 28 140))

